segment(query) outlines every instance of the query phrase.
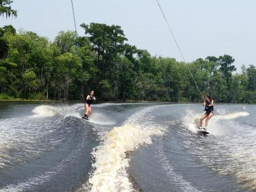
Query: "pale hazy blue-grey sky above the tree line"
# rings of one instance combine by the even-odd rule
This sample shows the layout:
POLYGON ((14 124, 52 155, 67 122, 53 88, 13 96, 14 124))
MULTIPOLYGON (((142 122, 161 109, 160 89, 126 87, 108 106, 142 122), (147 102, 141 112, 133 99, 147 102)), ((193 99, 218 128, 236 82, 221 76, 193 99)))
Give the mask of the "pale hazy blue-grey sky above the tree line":
MULTIPOLYGON (((256 66, 255 0, 159 0, 187 61, 224 54, 235 66, 256 66)), ((106 23, 122 27, 129 44, 152 55, 182 57, 155 0, 73 0, 77 26, 106 23)), ((0 18, 53 40, 61 30, 74 30, 71 0, 14 0, 18 17, 0 18)), ((81 27, 78 33, 84 35, 81 27)))

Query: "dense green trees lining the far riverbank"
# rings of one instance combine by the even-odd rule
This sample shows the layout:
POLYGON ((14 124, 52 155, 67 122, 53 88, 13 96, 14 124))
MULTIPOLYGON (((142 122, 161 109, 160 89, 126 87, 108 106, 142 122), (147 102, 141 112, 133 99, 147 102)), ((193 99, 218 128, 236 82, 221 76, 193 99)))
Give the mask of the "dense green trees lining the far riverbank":
MULTIPOLYGON (((81 27, 84 37, 61 31, 53 42, 30 31, 17 34, 12 26, 0 28, 1 98, 83 100, 89 88, 101 100, 201 101, 185 63, 127 44, 120 26, 81 27)), ((229 55, 208 56, 188 66, 201 92, 216 102, 256 103, 255 66, 237 74, 234 61, 229 55)))

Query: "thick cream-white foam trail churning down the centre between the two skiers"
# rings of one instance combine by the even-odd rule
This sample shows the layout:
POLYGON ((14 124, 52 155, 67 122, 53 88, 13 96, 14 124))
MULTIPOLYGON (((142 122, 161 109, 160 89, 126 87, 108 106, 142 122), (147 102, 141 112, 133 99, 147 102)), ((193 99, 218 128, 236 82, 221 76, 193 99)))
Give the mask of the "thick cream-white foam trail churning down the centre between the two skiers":
POLYGON ((138 125, 125 124, 113 128, 104 142, 95 148, 92 155, 95 171, 89 179, 92 191, 132 191, 126 168, 129 159, 126 152, 142 144, 152 143, 153 135, 162 135, 160 129, 142 128, 138 125))

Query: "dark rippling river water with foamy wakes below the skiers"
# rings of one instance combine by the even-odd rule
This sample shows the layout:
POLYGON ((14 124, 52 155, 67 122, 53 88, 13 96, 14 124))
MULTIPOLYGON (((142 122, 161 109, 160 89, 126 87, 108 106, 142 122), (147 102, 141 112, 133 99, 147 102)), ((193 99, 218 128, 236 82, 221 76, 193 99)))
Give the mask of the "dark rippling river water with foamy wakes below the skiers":
POLYGON ((256 191, 255 105, 0 103, 0 191, 256 191))

